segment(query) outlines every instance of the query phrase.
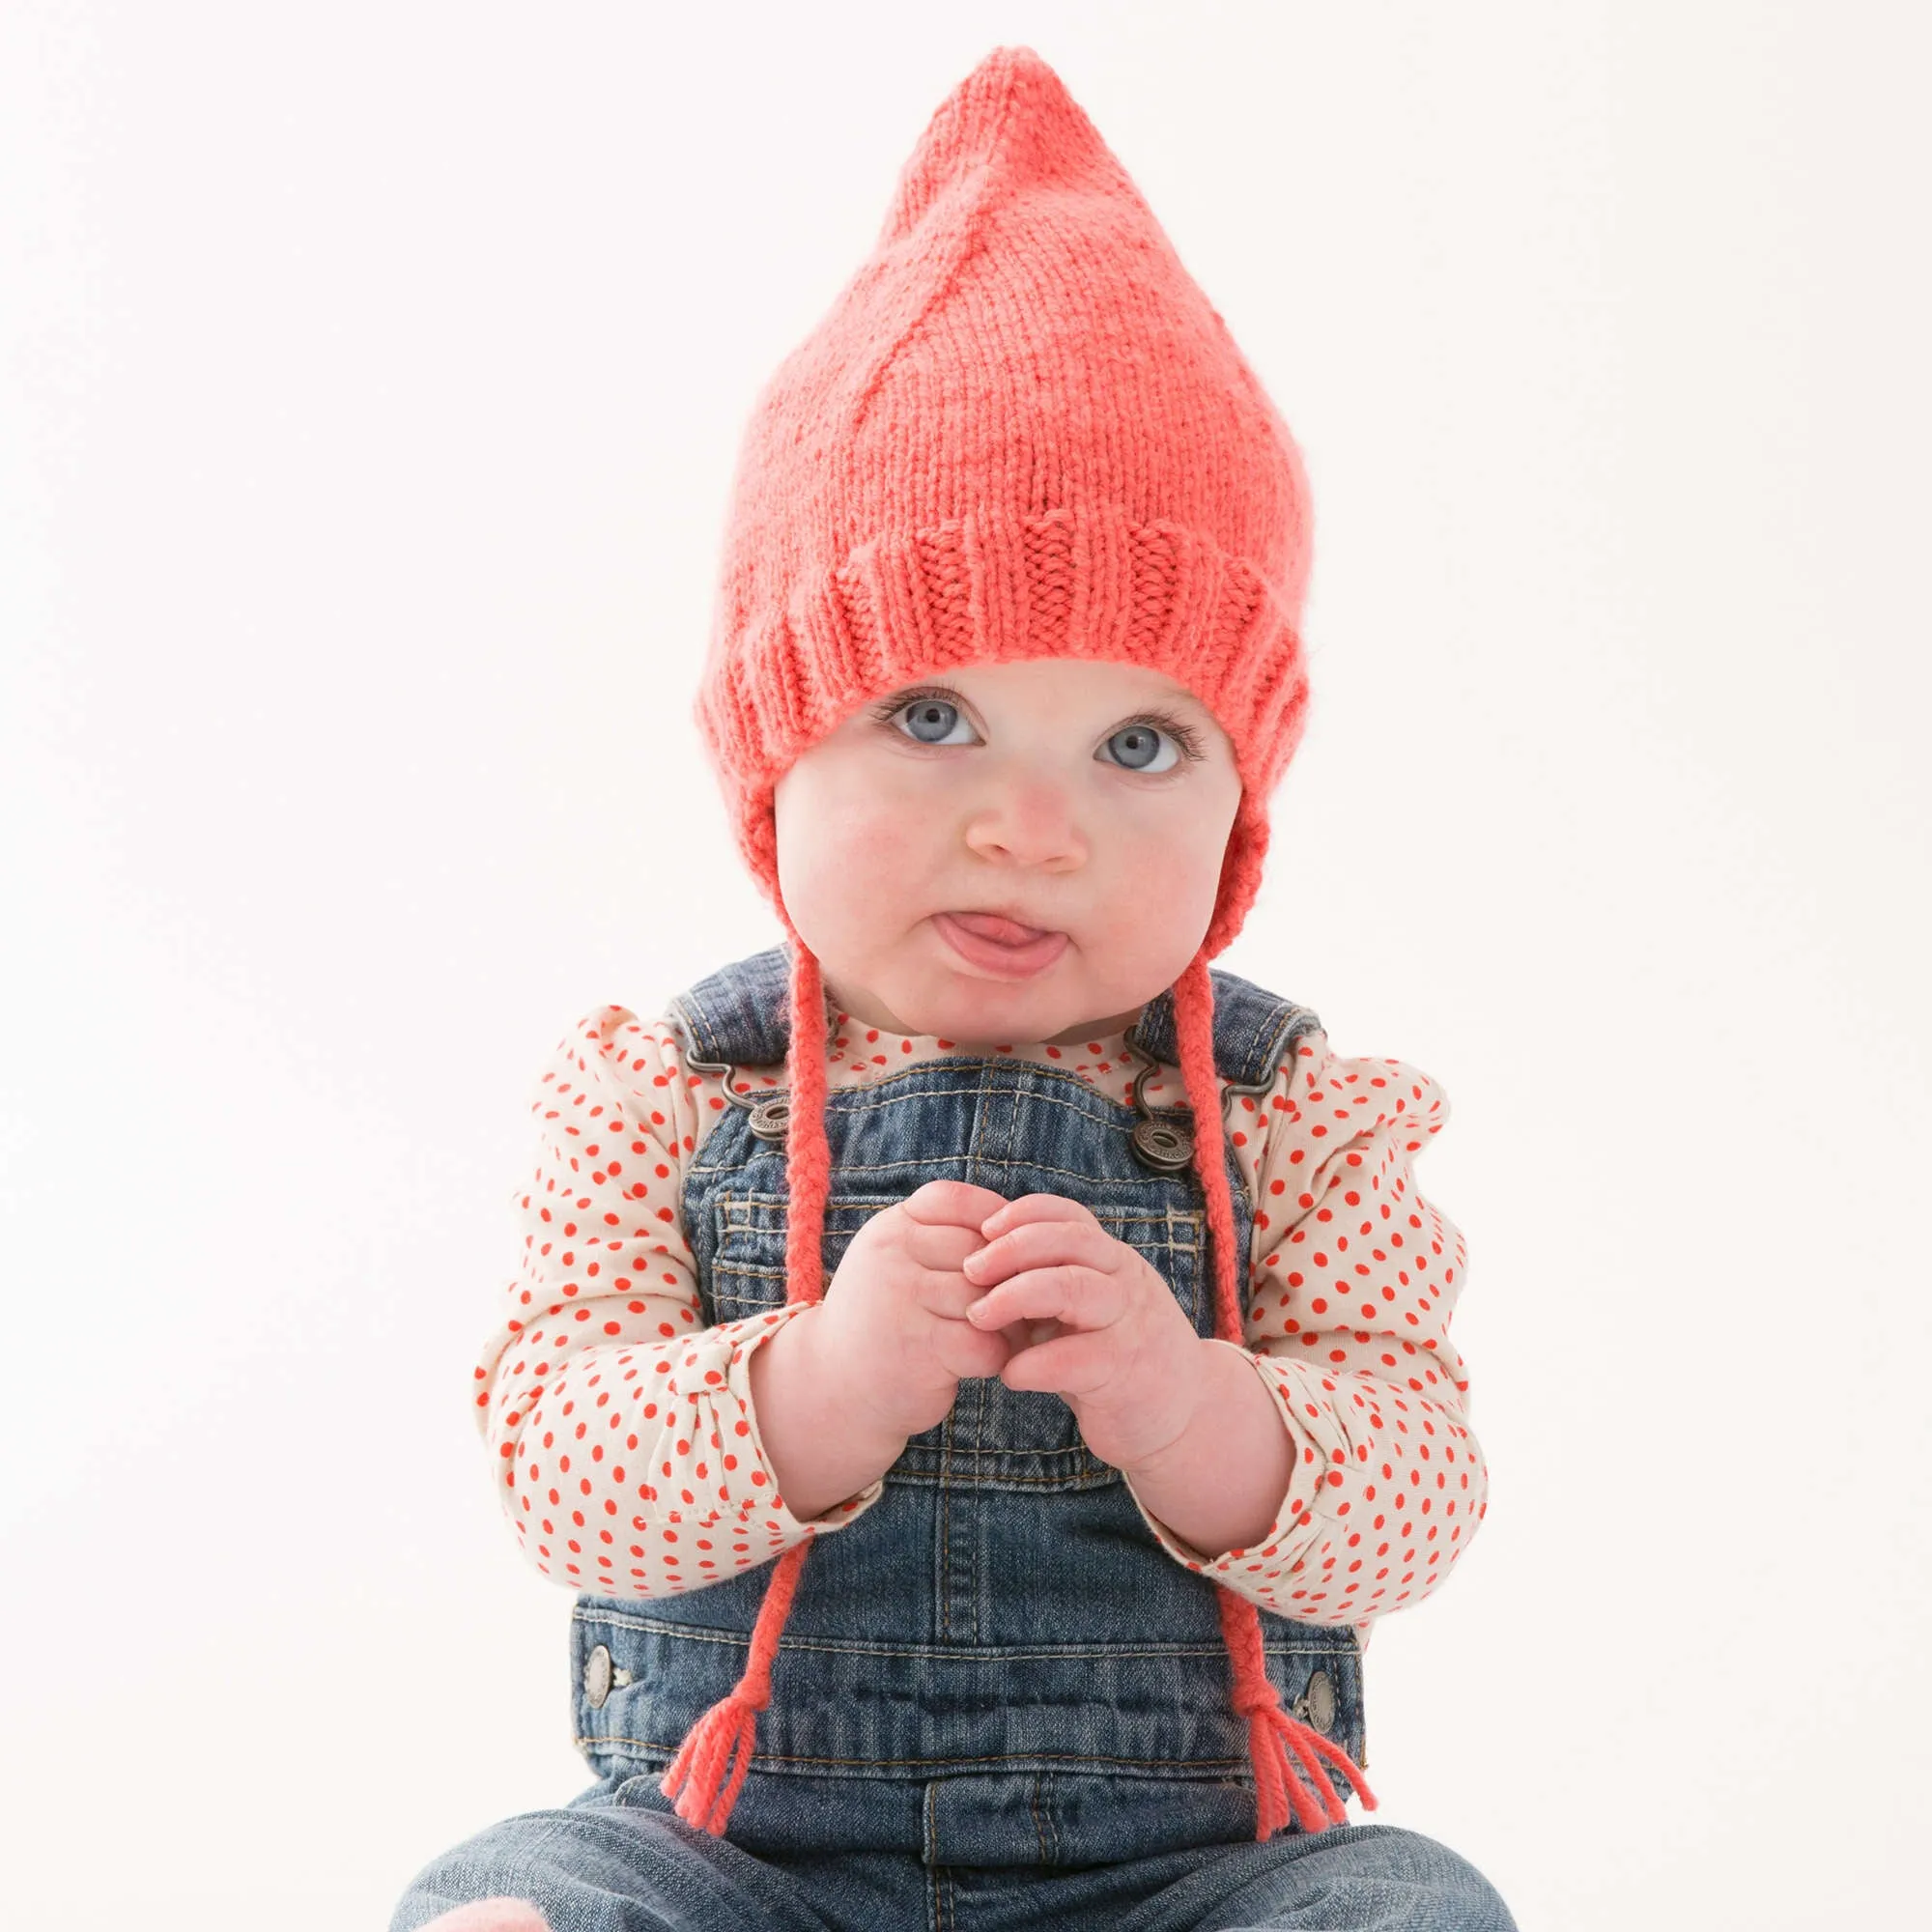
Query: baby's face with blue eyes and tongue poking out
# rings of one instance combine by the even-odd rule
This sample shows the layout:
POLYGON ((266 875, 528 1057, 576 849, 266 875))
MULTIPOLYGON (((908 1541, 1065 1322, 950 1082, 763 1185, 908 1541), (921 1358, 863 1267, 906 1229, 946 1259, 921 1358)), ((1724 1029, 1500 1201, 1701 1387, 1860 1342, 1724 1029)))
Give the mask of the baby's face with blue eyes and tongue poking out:
POLYGON ((779 781, 779 885, 833 1001, 960 1047, 1126 1026, 1200 949, 1240 804, 1235 748, 1140 665, 966 665, 873 699, 779 781), (1036 972, 952 912, 1065 935, 1036 972))

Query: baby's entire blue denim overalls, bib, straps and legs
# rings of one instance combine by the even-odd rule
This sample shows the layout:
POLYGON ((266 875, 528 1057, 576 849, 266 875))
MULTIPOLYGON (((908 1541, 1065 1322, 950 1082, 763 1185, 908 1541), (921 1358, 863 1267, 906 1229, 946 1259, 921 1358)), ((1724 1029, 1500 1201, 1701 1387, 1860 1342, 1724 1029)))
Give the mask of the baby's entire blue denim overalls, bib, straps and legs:
MULTIPOLYGON (((1293 1041, 1320 1026, 1235 974, 1213 970, 1213 989, 1215 1063, 1236 1088, 1269 1086, 1293 1041)), ((784 949, 711 974, 670 1010, 688 1065, 782 1066, 784 949)), ((1148 1003, 1128 1045, 1179 1063, 1169 993, 1148 1003)), ((952 1055, 831 1090, 827 1275, 867 1215, 927 1180, 1009 1200, 1053 1192, 1138 1248, 1196 1331, 1213 1335, 1188 1117, 1153 1115, 1142 1088, 1122 1105, 1049 1065, 952 1055)), ((707 1325, 786 1298, 784 1092, 732 1099, 684 1190, 707 1325)), ((1227 1159, 1244 1283, 1252 1202, 1227 1159)), ((433 1861, 390 1932, 498 1893, 533 1899, 556 1932, 1515 1932, 1488 1880, 1416 1832, 1304 1833, 1291 1820, 1256 1841, 1219 1586, 1161 1549, 1057 1395, 997 1376, 962 1381, 877 1501, 817 1538, 750 1772, 713 1837, 674 1816, 659 1781, 744 1673, 769 1582, 767 1563, 672 1598, 580 1594, 576 1745, 599 1781, 433 1861), (1209 1917, 1217 1903, 1254 1917, 1209 1917)), ((1283 1706, 1366 1770, 1354 1631, 1267 1609, 1260 1619, 1283 1706)), ((1347 1801, 1347 1779, 1331 1776, 1347 1801)))

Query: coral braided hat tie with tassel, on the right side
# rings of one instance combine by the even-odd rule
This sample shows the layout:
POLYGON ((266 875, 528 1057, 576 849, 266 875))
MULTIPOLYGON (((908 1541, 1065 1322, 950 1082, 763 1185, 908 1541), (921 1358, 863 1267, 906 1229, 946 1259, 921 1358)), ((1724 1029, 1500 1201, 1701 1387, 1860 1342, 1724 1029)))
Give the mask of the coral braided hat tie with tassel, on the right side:
MULTIPOLYGON (((1213 980, 1208 974, 1206 945, 1175 981, 1175 1037, 1180 1051, 1180 1080, 1194 1113, 1194 1171, 1208 1202, 1215 1265, 1215 1333, 1221 1341, 1246 1347, 1235 1277, 1235 1202, 1223 1155, 1221 1109, 1215 1105, 1219 1088, 1213 1065, 1213 980)), ((1256 1839, 1279 1832, 1289 1822, 1291 1804, 1294 1822, 1304 1832, 1325 1832, 1331 1824, 1349 1822, 1349 1812, 1321 1766, 1323 1758, 1343 1772, 1368 1810, 1379 1810, 1376 1793, 1368 1789, 1368 1779, 1349 1752, 1281 1708, 1281 1692, 1269 1679, 1262 1654, 1260 1613, 1248 1598, 1236 1596, 1225 1584, 1221 1584, 1221 1633, 1235 1660, 1235 1710, 1248 1719, 1256 1839), (1291 1750, 1296 1766, 1320 1789, 1320 1804, 1289 1768, 1291 1750)))

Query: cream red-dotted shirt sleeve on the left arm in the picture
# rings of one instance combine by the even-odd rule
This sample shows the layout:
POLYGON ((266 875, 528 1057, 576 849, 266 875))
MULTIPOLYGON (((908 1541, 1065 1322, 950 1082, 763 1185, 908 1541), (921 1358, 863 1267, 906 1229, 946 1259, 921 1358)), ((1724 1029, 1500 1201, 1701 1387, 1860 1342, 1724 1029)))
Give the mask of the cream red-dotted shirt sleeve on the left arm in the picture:
POLYGON ((703 1325, 680 1215, 699 1105, 728 1103, 686 1074, 668 1020, 628 1007, 578 1020, 531 1103, 518 1275, 473 1416, 524 1555, 572 1590, 701 1590, 842 1528, 885 1488, 813 1522, 779 1495, 750 1362, 804 1306, 703 1325))

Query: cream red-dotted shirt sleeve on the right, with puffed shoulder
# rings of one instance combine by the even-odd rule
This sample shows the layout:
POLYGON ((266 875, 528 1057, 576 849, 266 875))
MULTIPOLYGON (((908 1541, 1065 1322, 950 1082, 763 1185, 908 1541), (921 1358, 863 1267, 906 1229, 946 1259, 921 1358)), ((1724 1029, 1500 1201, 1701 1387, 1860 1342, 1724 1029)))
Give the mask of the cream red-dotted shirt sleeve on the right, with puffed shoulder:
MULTIPOLYGON (((1308 1034, 1236 1134, 1256 1177, 1246 1354, 1294 1447, 1281 1511, 1219 1557, 1142 1517, 1179 1563, 1302 1623, 1422 1602, 1488 1507, 1468 1378, 1449 1341, 1461 1229, 1414 1180, 1449 1119, 1426 1072, 1308 1034)), ((1219 1347, 1231 1347, 1219 1343, 1219 1347)))

